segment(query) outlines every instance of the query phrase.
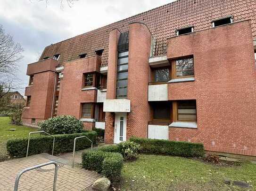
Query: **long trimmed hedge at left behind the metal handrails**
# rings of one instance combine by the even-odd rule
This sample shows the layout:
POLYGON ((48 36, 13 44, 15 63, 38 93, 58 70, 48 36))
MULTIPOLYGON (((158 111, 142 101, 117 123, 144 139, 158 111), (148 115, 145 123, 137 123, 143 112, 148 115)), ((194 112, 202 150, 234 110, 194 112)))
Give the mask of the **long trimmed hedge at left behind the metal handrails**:
MULTIPOLYGON (((72 152, 74 147, 74 138, 86 136, 96 142, 97 133, 95 131, 54 135, 55 145, 54 153, 72 152)), ((14 138, 7 141, 7 151, 12 157, 25 157, 28 138, 14 138)), ((53 138, 50 136, 37 136, 30 138, 28 155, 51 153, 53 138)), ((75 149, 82 150, 91 147, 91 142, 87 138, 80 138, 76 141, 75 149)))

